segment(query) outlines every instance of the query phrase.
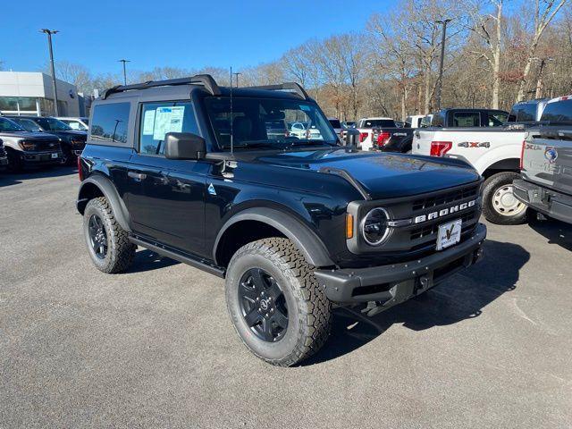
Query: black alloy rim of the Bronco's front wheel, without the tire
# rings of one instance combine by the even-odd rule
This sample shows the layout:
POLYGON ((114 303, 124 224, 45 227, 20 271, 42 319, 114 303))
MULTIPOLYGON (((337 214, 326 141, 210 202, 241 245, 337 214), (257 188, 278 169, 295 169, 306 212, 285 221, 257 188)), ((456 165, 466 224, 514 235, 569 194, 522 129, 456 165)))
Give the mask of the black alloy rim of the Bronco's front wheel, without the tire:
POLYGON ((239 286, 240 310, 250 330, 268 342, 282 340, 288 329, 288 306, 273 277, 261 268, 242 275, 239 286))

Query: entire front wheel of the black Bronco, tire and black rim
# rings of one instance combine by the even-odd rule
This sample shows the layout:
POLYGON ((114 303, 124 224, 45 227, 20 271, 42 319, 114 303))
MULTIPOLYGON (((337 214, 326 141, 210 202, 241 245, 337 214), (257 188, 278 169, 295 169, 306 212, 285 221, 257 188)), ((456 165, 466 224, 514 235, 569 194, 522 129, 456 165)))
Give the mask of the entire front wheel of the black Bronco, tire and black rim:
POLYGON ((292 366, 327 340, 332 315, 304 256, 290 240, 240 248, 226 275, 226 303, 240 339, 257 357, 292 366))

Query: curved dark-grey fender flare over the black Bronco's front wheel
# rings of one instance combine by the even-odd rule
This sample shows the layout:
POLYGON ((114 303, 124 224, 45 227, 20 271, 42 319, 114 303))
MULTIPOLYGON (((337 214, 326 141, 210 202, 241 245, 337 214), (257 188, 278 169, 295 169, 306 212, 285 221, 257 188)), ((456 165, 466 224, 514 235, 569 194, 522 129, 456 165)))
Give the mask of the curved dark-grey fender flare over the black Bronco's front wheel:
MULTIPOLYGON (((241 221, 257 221, 266 223, 278 231, 281 231, 289 240, 291 240, 297 248, 300 249, 308 264, 316 267, 325 267, 335 265, 328 254, 324 243, 307 225, 301 223, 291 214, 281 212, 279 210, 261 207, 248 208, 238 214, 233 215, 226 223, 214 240, 213 260, 216 261, 216 253, 223 238, 224 232, 227 231, 234 223, 241 221)), ((218 261, 216 261, 218 263, 218 261)))

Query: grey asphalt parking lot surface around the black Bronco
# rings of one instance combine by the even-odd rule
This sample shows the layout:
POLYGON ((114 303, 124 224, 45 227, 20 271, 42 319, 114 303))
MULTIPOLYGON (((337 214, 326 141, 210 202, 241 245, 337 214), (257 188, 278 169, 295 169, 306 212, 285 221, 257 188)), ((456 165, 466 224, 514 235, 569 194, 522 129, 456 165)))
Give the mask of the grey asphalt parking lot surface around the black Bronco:
POLYGON ((90 263, 71 169, 0 174, 0 427, 572 426, 572 228, 489 224, 486 257, 303 366, 233 331, 223 281, 90 263))

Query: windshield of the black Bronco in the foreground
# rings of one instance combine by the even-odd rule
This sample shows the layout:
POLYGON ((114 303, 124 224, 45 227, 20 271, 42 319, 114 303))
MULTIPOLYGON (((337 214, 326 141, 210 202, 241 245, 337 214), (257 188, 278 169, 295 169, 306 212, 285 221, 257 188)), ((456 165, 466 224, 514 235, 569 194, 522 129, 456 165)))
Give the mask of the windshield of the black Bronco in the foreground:
POLYGON ((206 97, 206 113, 223 149, 336 145, 338 139, 317 106, 281 98, 206 97))

